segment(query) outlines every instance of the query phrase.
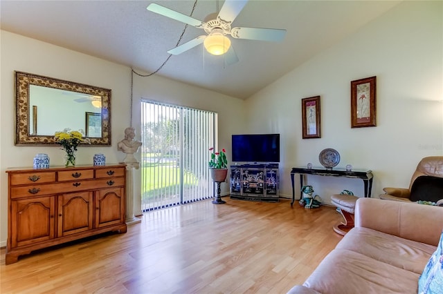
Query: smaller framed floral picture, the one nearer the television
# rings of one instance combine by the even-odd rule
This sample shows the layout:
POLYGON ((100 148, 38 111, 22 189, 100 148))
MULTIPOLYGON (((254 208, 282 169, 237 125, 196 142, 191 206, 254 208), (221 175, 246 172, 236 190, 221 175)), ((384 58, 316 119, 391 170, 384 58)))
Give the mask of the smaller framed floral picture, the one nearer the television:
POLYGON ((302 99, 302 138, 321 138, 320 96, 302 99))

